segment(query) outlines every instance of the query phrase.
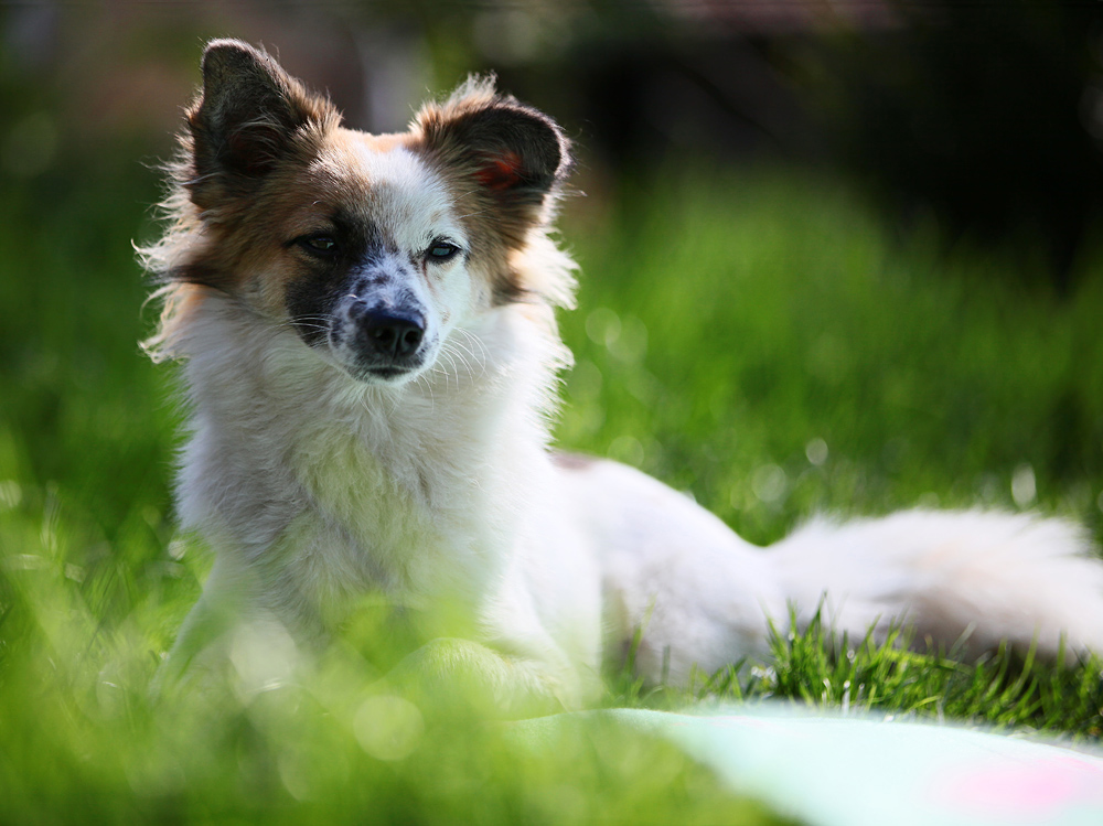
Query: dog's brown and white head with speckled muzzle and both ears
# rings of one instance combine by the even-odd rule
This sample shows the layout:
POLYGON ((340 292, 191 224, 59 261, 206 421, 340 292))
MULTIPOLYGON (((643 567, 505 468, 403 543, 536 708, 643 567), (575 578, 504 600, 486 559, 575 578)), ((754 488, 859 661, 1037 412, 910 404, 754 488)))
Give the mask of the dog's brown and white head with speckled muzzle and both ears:
POLYGON ((407 382, 478 313, 557 300, 517 261, 543 237, 568 141, 489 81, 372 136, 268 54, 214 41, 182 142, 189 240, 162 275, 291 325, 358 380, 407 382))

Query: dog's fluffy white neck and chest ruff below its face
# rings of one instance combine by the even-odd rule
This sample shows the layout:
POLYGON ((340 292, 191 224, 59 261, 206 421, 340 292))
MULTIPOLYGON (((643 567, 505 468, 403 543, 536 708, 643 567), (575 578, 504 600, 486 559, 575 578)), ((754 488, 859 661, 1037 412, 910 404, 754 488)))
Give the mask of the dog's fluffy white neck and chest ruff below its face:
POLYGON ((260 571, 281 543, 317 546, 307 581, 323 592, 289 597, 313 603, 296 614, 340 611, 342 593, 373 588, 414 604, 479 600, 544 481, 534 468, 546 465, 567 357, 550 308, 482 313, 432 371, 379 387, 323 362, 289 325, 186 289, 196 294, 171 342, 192 403, 185 526, 260 571))

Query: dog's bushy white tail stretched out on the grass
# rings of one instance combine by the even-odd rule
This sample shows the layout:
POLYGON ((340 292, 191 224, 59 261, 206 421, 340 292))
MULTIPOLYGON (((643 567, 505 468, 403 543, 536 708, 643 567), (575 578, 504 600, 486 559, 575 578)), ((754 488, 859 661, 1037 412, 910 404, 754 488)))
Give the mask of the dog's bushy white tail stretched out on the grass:
POLYGON ((910 625, 914 644, 975 656, 1000 641, 1054 658, 1103 655, 1103 560, 1059 518, 983 511, 907 511, 816 518, 771 548, 797 622, 836 634, 910 625))

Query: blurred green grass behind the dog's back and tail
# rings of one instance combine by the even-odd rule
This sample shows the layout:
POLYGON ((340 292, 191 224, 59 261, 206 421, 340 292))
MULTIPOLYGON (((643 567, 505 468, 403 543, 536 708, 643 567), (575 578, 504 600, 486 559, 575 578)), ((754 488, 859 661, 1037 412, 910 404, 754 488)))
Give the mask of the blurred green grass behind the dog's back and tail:
POLYGON ((1097 277, 1068 303, 999 286, 1013 254, 946 256, 933 227, 893 240, 808 173, 668 169, 607 219, 566 233, 583 268, 567 444, 690 491, 756 541, 814 509, 915 504, 1040 502, 1099 526, 1097 277))

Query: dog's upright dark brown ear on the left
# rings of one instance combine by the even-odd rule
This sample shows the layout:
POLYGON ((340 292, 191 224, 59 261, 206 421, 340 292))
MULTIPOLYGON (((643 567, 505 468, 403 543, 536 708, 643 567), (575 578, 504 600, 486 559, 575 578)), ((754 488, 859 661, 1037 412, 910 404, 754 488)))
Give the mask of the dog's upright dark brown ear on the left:
POLYGON ((309 160, 313 142, 340 120, 324 97, 308 92, 267 52, 215 40, 203 53, 203 92, 188 111, 184 185, 210 210, 247 195, 282 160, 309 160), (189 140, 190 137, 190 140, 189 140))

